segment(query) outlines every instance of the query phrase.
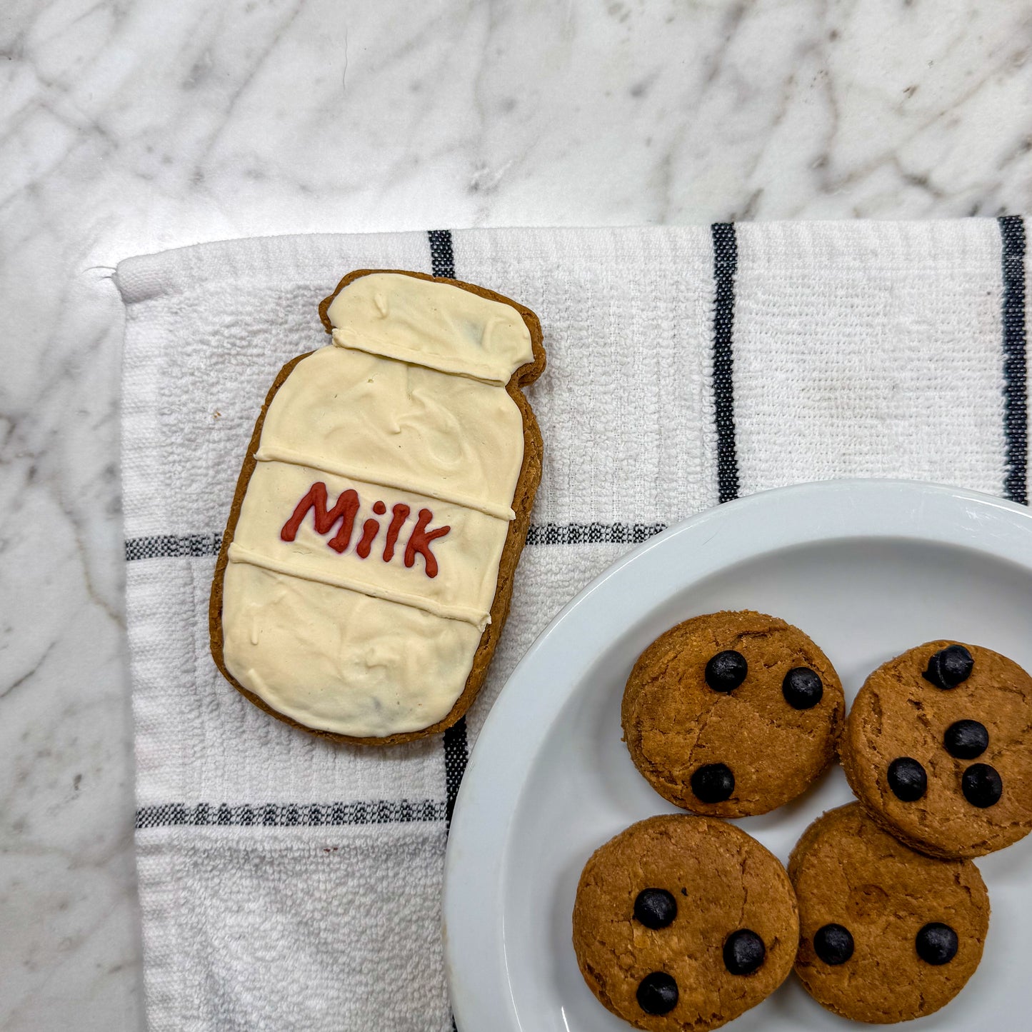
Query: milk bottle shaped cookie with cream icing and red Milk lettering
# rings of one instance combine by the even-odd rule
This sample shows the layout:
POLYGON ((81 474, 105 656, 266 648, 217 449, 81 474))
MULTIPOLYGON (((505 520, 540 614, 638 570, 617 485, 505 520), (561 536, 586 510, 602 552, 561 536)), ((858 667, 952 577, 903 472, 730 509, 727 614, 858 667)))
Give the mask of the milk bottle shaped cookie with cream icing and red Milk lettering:
POLYGON ((541 479, 528 309, 417 272, 346 277, 240 472, 212 652, 275 716, 346 741, 443 731, 483 682, 541 479))

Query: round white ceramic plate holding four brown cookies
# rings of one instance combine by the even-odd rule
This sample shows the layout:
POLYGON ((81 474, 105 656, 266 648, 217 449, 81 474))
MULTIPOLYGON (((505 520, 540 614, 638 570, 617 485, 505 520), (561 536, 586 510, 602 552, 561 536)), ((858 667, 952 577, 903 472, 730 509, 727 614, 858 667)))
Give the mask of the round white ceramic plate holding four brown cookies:
MULTIPOLYGON (((445 871, 445 943, 461 1032, 618 1032, 571 945, 581 868, 616 832, 673 812, 620 741, 642 649, 689 616, 757 609, 798 624, 851 701, 912 645, 957 638, 1032 669, 1032 514, 927 484, 839 481, 733 502, 635 549, 553 620, 513 672, 459 793, 445 871)), ((834 768, 801 799, 736 821, 786 862, 806 826, 851 799, 834 768)), ((1027 1027, 1032 836, 978 866, 993 907, 980 967, 913 1029, 1027 1027)), ((795 976, 735 1032, 837 1029, 795 976)), ((854 1026, 856 1027, 856 1026, 854 1026)))

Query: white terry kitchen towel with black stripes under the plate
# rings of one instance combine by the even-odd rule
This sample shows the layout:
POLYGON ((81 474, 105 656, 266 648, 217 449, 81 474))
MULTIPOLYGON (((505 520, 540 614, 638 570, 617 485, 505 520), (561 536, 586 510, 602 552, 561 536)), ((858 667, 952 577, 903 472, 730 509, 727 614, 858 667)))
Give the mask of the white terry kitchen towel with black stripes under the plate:
POLYGON ((1017 218, 277 237, 133 258, 117 282, 139 892, 161 1032, 452 1027, 441 880, 466 751, 534 638, 636 543, 825 478, 1027 502, 1017 218), (287 359, 325 343, 320 299, 362 267, 517 298, 548 352, 528 391, 544 477, 490 678, 467 720, 393 749, 269 718, 208 652, 258 409, 287 359))

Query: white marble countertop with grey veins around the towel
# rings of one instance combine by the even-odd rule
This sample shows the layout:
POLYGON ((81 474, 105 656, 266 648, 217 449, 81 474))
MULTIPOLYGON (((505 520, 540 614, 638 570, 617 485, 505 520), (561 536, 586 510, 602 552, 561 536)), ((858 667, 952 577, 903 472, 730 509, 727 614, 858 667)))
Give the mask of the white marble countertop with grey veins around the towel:
POLYGON ((143 1025, 112 267, 232 236, 1032 211, 977 0, 7 0, 0 1027, 143 1025))

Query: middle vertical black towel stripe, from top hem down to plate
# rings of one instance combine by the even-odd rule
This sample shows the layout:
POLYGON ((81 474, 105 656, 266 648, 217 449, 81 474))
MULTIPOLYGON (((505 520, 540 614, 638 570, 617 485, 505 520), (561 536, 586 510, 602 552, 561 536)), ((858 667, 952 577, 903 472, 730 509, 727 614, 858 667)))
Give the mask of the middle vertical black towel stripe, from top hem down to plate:
POLYGON ((717 222, 713 237, 713 401, 716 422, 717 496, 738 497, 738 454, 735 450, 735 386, 732 341, 735 330, 735 275, 738 241, 735 224, 717 222))

